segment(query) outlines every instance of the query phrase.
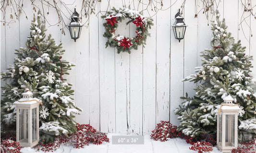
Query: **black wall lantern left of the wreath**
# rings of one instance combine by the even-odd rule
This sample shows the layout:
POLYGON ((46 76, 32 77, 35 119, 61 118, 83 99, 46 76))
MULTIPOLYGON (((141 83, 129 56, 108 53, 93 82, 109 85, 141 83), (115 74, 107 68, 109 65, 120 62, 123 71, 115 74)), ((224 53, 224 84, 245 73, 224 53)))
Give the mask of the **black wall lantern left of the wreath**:
POLYGON ((74 9, 74 12, 71 16, 71 23, 68 25, 71 38, 74 39, 74 42, 76 39, 80 37, 81 29, 82 29, 82 25, 78 21, 78 18, 79 18, 79 14, 74 9))

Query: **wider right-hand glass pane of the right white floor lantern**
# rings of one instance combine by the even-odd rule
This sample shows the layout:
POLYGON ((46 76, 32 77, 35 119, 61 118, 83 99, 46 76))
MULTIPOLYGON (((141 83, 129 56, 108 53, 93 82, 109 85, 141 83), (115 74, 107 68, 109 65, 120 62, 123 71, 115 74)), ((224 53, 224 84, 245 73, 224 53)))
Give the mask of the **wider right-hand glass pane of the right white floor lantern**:
POLYGON ((226 147, 234 146, 234 115, 226 115, 226 147))

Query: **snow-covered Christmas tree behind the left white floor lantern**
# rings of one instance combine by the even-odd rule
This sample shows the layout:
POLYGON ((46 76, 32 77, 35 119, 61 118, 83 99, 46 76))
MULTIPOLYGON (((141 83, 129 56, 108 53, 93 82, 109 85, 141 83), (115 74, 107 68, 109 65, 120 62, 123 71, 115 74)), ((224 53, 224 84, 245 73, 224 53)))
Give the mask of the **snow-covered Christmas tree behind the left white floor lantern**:
POLYGON ((45 23, 40 11, 34 15, 26 47, 16 50, 14 65, 1 73, 2 79, 11 79, 2 88, 1 134, 15 131, 16 110, 13 102, 21 98, 24 89, 42 101, 39 109, 41 140, 53 141, 58 135, 76 131, 75 114, 81 109, 75 106, 71 84, 63 79, 74 64, 61 59, 65 50, 56 45, 51 35, 45 34, 45 23))

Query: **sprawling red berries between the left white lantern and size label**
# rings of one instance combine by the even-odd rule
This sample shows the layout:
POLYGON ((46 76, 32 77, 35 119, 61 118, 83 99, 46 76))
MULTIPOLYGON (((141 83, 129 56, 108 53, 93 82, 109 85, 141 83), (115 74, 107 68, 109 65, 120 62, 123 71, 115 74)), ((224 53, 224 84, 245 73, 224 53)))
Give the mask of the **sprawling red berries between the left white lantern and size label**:
POLYGON ((84 148, 85 145, 89 145, 89 142, 92 142, 93 144, 102 144, 103 141, 110 141, 106 133, 97 131, 97 129, 94 129, 89 124, 78 124, 76 129, 77 131, 75 131, 73 135, 69 135, 69 137, 62 135, 53 143, 39 143, 37 145, 37 150, 53 152, 53 150, 58 149, 61 144, 69 143, 73 144, 74 148, 84 148))

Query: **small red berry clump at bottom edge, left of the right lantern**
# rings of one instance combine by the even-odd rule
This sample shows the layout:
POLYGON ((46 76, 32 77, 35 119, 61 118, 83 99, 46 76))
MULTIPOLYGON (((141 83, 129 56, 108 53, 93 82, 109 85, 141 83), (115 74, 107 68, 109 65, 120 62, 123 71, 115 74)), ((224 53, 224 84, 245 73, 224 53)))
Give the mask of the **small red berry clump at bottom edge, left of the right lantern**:
POLYGON ((192 147, 189 147, 190 150, 197 151, 197 153, 210 153, 213 151, 210 142, 199 142, 193 144, 192 147))

